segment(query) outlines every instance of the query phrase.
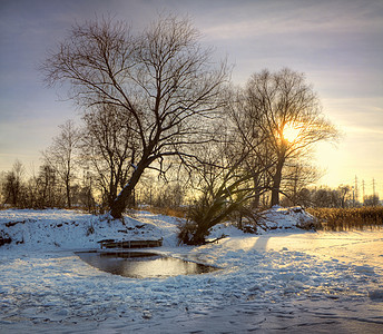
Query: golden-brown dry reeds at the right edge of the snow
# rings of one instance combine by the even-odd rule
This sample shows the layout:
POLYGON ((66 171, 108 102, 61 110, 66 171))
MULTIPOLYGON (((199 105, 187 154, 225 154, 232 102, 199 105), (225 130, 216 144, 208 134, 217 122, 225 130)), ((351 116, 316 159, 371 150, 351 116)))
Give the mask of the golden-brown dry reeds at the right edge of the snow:
POLYGON ((383 207, 307 208, 324 230, 350 230, 383 227, 383 207))

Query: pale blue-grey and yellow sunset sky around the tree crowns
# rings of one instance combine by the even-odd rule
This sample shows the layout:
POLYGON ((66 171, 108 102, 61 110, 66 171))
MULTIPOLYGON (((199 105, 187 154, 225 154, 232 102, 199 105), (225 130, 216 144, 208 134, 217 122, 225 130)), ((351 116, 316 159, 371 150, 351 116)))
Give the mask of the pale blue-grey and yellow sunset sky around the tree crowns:
POLYGON ((372 195, 374 179, 383 197, 382 0, 0 0, 0 171, 19 159, 32 173, 58 126, 80 118, 38 70, 75 22, 112 16, 140 31, 161 12, 189 17, 235 85, 265 68, 304 72, 343 134, 317 147, 318 184, 356 176, 372 195))

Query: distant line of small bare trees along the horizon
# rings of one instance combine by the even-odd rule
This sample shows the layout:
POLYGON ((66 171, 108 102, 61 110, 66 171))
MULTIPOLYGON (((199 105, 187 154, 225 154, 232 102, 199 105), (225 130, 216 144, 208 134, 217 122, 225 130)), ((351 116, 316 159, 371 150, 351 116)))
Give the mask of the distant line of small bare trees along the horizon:
MULTIPOLYGON (((315 214, 318 215, 318 218, 331 218, 336 213, 336 210, 326 210, 325 208, 381 207, 377 195, 365 196, 364 200, 360 202, 353 197, 352 187, 344 185, 337 188, 302 187, 297 191, 288 190, 286 186, 284 193, 286 195, 281 199, 282 206, 324 208, 323 210, 315 212, 320 213, 315 214)), ((136 187, 129 206, 157 208, 160 213, 185 216, 187 207, 195 204, 194 200, 195 198, 193 193, 190 193, 190 188, 188 188, 187 181, 183 183, 181 179, 166 181, 155 176, 146 176, 136 187)), ((75 207, 89 212, 104 212, 108 209, 102 204, 102 188, 98 186, 96 177, 87 169, 77 169, 77 176, 76 178, 73 177, 73 181, 70 185, 70 203, 71 206, 68 206, 66 186, 62 178, 49 165, 40 166, 35 174, 32 171, 27 173, 23 165, 17 160, 11 170, 0 171, 0 208, 75 207)), ((254 200, 248 203, 248 206, 254 209, 269 207, 269 194, 263 194, 256 206, 254 200)), ((338 213, 342 216, 345 210, 340 210, 338 213)))

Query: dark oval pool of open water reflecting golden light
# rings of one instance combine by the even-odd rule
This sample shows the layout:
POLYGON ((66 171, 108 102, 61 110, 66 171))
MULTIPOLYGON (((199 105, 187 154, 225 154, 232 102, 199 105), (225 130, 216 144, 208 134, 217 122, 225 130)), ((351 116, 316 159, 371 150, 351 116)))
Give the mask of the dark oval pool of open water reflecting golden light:
POLYGON ((132 278, 205 274, 217 268, 146 252, 78 252, 82 261, 104 272, 132 278))

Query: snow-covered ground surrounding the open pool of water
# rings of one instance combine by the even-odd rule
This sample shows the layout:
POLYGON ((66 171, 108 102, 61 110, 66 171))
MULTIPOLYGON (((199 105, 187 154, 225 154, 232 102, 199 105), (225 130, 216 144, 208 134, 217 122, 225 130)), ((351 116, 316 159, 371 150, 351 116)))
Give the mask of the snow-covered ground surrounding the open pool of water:
MULTIPOLYGON (((302 217, 283 209, 274 224, 302 217)), ((294 220, 295 219, 295 220, 294 220)), ((177 246, 176 218, 126 224, 68 210, 1 210, 1 333, 383 333, 383 232, 263 235, 220 225, 218 244, 177 246), (9 224, 17 223, 18 224, 9 224), (105 238, 158 239, 161 254, 222 269, 135 279, 94 268, 73 250, 105 238), (17 244, 19 242, 19 244, 17 244)))

